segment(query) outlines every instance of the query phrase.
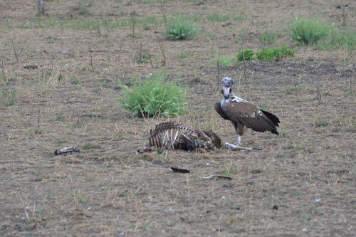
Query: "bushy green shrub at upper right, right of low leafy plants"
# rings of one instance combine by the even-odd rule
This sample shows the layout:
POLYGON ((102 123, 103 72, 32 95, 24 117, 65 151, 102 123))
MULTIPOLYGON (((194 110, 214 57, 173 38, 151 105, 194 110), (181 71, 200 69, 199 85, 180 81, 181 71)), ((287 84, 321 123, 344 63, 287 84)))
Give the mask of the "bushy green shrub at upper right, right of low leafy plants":
POLYGON ((310 45, 329 36, 333 29, 333 25, 326 25, 318 19, 295 18, 291 29, 291 37, 295 41, 310 45))

